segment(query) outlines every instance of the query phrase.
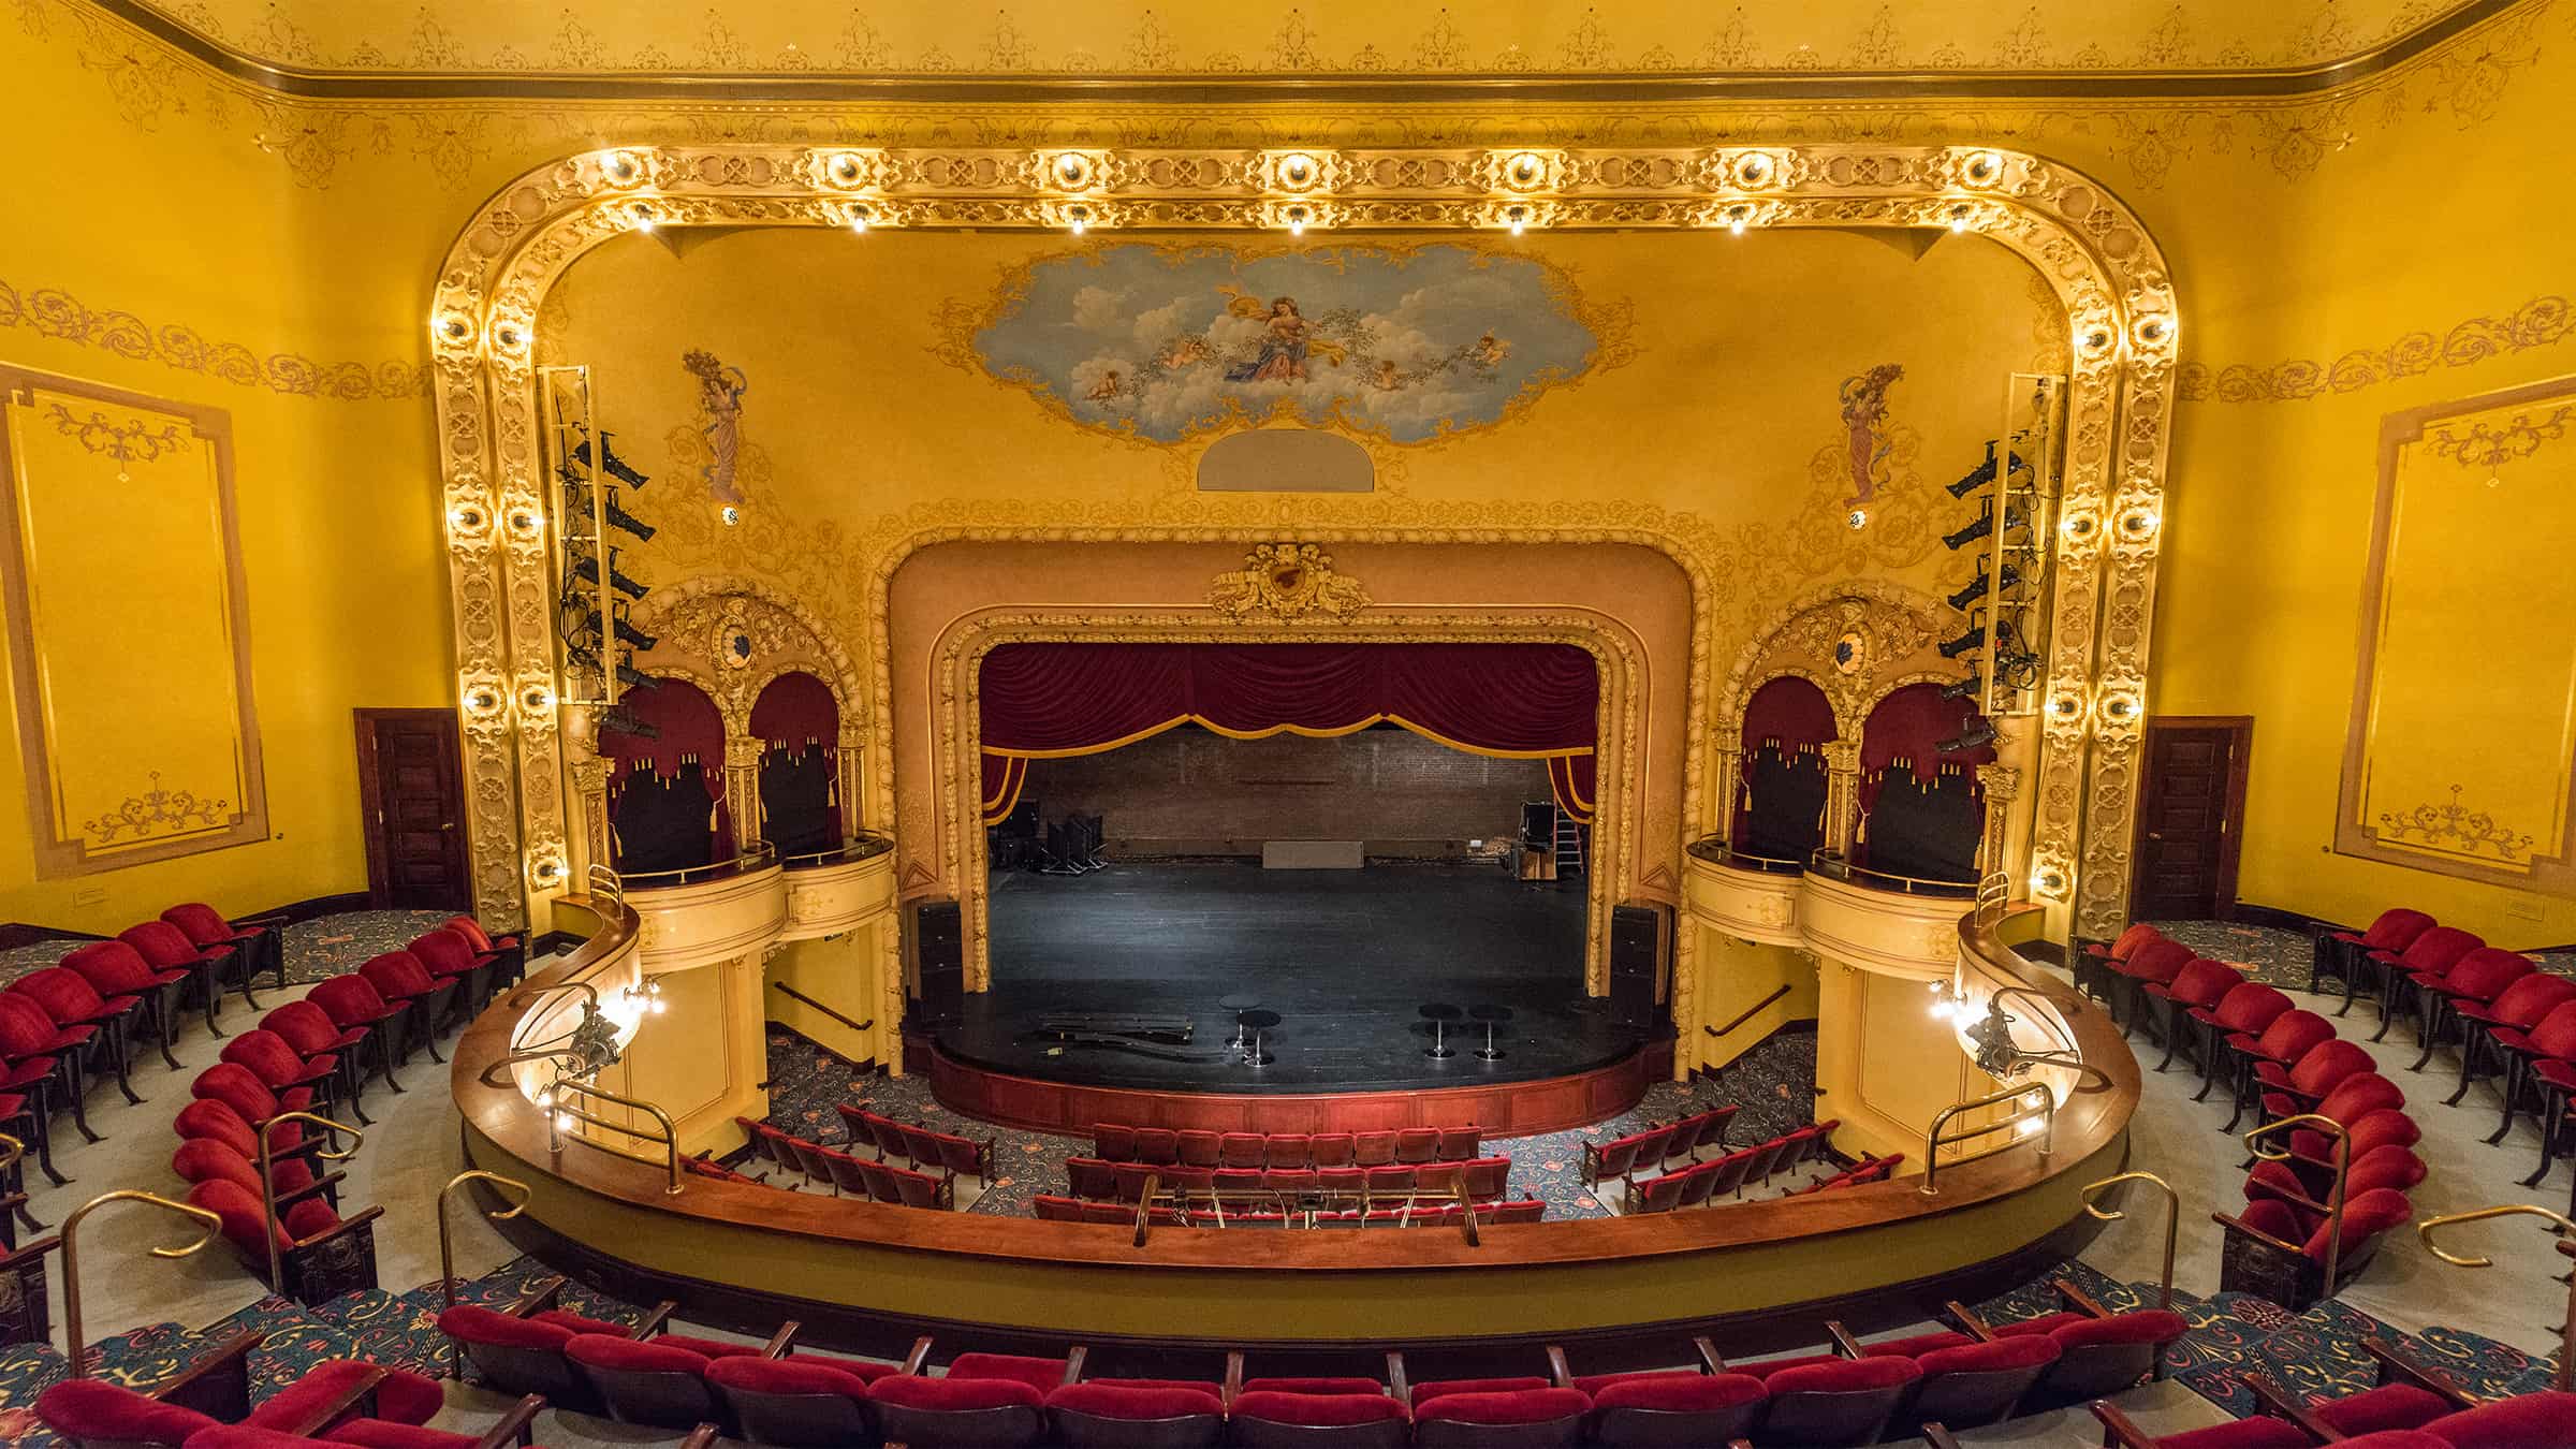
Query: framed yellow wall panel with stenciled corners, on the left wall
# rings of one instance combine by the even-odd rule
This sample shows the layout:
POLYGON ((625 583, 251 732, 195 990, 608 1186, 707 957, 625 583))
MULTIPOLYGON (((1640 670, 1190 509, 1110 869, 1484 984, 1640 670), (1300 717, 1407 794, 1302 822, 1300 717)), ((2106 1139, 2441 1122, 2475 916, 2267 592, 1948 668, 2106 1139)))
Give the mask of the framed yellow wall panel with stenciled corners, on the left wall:
POLYGON ((39 371, 0 384, 36 874, 263 841, 229 418, 39 371))

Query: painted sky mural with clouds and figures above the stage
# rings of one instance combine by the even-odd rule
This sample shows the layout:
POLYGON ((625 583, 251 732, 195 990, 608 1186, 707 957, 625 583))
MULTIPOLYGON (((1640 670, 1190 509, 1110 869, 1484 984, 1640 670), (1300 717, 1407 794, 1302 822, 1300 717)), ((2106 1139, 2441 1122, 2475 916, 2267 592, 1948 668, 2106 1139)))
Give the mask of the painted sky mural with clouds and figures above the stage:
POLYGON ((1260 423, 1427 443, 1625 351, 1625 309, 1587 309, 1548 263, 1463 245, 1115 245, 1041 258, 981 317, 951 304, 943 322, 994 379, 1151 443, 1260 423))

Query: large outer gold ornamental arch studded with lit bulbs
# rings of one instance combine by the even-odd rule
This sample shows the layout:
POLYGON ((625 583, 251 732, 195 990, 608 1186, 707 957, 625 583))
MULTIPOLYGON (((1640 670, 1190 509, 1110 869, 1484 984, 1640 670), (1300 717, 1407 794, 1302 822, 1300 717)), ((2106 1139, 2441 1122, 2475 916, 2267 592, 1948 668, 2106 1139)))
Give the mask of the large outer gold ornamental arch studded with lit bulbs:
MULTIPOLYGON (((430 307, 479 908, 515 920, 567 884, 531 387, 538 304, 564 268, 644 224, 1072 227, 1079 219, 1103 229, 1244 235, 1285 227, 1293 206, 1306 206, 1311 227, 1352 232, 1958 227, 2038 268, 2074 338, 2038 853, 2066 882, 2050 905, 2071 908, 2084 933, 2117 931, 2179 330, 2172 278, 2136 214, 2081 173, 1999 147, 1896 144, 1043 152, 675 144, 592 150, 520 175, 464 227, 430 307), (1066 155, 1079 162, 1066 165, 1066 155), (523 871, 520 861, 531 866, 523 871)), ((1133 511, 1131 521, 1087 536, 1200 534, 1146 503, 1133 511)), ((1404 536, 1455 529, 1492 541, 1592 541, 1595 534, 1569 529, 1566 511, 1546 503, 1422 511, 1425 523, 1404 536)), ((891 727, 886 583, 914 547, 974 531, 971 513, 966 503, 917 505, 909 513, 917 531, 876 559, 868 639, 876 740, 891 727)), ((1613 541, 1659 547, 1695 580, 1687 714, 1698 743, 1710 621, 1703 559, 1667 534, 1613 541)), ((1690 750, 1692 776, 1703 753, 1703 745, 1690 750)), ((871 771, 868 822, 886 825, 891 815, 889 771, 871 771)))

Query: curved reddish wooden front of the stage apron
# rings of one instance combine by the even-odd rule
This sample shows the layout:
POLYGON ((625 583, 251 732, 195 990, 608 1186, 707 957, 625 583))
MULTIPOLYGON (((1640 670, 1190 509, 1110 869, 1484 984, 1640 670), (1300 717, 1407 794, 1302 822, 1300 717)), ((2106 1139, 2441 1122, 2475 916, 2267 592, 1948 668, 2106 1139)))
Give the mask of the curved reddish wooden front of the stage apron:
POLYGON ((1399 1127, 1481 1127, 1492 1137, 1530 1137, 1589 1127, 1628 1111, 1672 1075, 1672 1042, 1649 1042, 1607 1067, 1517 1083, 1345 1091, 1218 1093, 1139 1091, 1020 1078, 961 1062, 933 1047, 930 1093, 963 1116, 1090 1137, 1095 1122, 1175 1132, 1391 1132, 1399 1127))

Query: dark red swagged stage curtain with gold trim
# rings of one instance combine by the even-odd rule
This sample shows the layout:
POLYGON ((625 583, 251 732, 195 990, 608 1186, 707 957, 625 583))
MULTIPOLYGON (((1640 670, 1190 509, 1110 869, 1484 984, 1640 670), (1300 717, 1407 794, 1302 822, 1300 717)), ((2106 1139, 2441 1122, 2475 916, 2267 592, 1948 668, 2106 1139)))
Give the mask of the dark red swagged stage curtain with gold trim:
POLYGON ((1548 761, 1592 822, 1600 670, 1574 645, 1002 645, 984 655, 984 822, 1028 761, 1097 755, 1175 724, 1229 740, 1401 724, 1473 755, 1548 761))

